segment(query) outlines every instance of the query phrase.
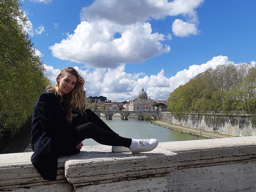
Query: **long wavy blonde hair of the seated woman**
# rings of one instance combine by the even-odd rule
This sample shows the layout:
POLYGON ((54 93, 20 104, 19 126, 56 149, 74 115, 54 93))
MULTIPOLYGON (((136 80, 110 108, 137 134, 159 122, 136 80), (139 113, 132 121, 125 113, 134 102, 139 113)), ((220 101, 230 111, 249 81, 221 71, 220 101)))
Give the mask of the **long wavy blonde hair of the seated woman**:
MULTIPOLYGON (((79 73, 76 71, 76 69, 72 67, 63 68, 61 69, 60 74, 56 78, 56 84, 47 86, 47 92, 54 91, 56 95, 60 95, 60 102, 63 101, 63 95, 60 92, 60 82, 58 82, 58 78, 62 78, 68 73, 76 76, 76 78, 79 77, 79 73)), ((64 104, 66 108, 66 121, 68 123, 72 122, 73 111, 85 114, 84 108, 86 104, 86 99, 84 87, 82 84, 77 82, 74 89, 71 92, 65 94, 64 104)))

